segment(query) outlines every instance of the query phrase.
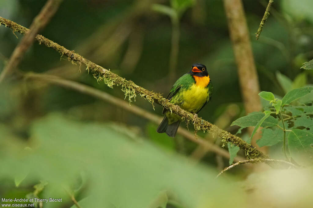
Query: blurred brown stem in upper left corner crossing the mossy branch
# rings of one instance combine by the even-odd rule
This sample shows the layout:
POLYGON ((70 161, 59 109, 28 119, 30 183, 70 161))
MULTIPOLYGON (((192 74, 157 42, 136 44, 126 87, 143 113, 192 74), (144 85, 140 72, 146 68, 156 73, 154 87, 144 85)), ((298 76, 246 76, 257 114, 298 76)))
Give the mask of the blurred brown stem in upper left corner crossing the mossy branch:
POLYGON ((25 36, 14 49, 8 64, 4 67, 0 74, 0 83, 4 80, 6 75, 12 73, 12 71, 16 68, 16 66, 22 60, 26 50, 33 44, 36 34, 46 26, 51 17, 58 10, 61 2, 62 0, 48 0, 46 2, 39 14, 34 18, 32 24, 30 25, 30 30, 25 34, 25 36))

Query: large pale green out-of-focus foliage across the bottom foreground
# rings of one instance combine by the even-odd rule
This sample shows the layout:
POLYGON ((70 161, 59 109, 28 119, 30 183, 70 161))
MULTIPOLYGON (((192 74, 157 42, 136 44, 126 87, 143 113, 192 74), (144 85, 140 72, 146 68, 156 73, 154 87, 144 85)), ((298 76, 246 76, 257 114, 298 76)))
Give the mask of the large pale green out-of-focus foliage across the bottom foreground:
MULTIPOLYGON (((69 202, 62 187, 71 187, 80 171, 88 176, 90 188, 85 187, 85 194, 92 198, 85 207, 147 207, 162 190, 174 192, 172 198, 188 207, 205 207, 207 202, 218 205, 224 194, 232 195, 226 207, 239 196, 231 194, 232 189, 221 188, 227 183, 215 181, 212 168, 195 166, 147 141, 136 142, 106 124, 81 123, 49 114, 33 123, 30 138, 19 143, 10 135, 1 138, 2 164, 6 168, 0 173, 6 180, 21 170, 29 171, 21 187, 31 185, 35 178, 45 178, 49 183, 40 198, 62 197, 69 202), (23 150, 23 146, 29 150, 23 150), (58 187, 61 192, 55 193, 58 187)), ((9 191, 3 191, 2 196, 7 197, 9 191)), ((55 202, 45 207, 59 206, 55 202)))

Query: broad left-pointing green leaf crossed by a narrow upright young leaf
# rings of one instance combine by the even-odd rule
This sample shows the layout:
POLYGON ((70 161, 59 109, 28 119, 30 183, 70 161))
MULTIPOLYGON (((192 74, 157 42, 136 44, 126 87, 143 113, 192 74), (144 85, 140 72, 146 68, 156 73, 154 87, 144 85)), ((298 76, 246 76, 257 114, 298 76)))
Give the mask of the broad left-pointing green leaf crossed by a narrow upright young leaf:
MULTIPOLYGON (((254 112, 247 116, 241 117, 231 124, 237 125, 240 127, 248 127, 248 126, 256 126, 259 120, 261 120, 264 117, 264 113, 261 112, 254 112)), ((270 126, 276 126, 278 124, 277 119, 275 119, 273 116, 269 116, 267 119, 264 120, 264 122, 261 124, 261 127, 270 127, 270 126)))

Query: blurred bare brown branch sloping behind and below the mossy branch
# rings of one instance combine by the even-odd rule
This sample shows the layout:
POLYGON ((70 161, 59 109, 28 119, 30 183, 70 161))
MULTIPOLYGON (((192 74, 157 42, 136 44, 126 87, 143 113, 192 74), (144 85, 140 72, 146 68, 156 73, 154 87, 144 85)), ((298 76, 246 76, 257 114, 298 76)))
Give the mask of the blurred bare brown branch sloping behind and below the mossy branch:
MULTIPOLYGON (((112 96, 106 92, 99 90, 99 89, 92 88, 88 85, 83 85, 83 84, 80 84, 80 83, 75 82, 75 81, 64 80, 64 79, 61 79, 61 78, 59 78, 57 76, 53 76, 53 75, 26 73, 23 76, 25 79, 44 80, 44 81, 47 81, 47 82, 52 83, 52 84, 56 84, 56 85, 70 88, 70 89, 77 90, 77 91, 84 93, 84 94, 89 94, 89 95, 94 96, 96 98, 105 100, 111 104, 119 106, 125 110, 128 110, 131 113, 139 115, 139 116, 141 116, 145 119, 148 119, 148 120, 150 120, 156 124, 159 124, 162 121, 162 117, 160 117, 160 116, 157 116, 155 114, 151 114, 150 112, 148 112, 142 108, 139 108, 134 104, 132 104, 130 106, 128 102, 126 102, 122 99, 116 98, 116 97, 114 97, 114 96, 112 96)), ((187 131, 184 128, 179 128, 177 133, 182 135, 183 137, 191 140, 192 142, 199 144, 205 150, 215 152, 216 154, 221 155, 221 156, 229 159, 228 151, 221 148, 220 146, 215 145, 213 143, 210 143, 209 141, 207 141, 201 137, 198 137, 198 139, 195 139, 194 134, 190 133, 189 131, 187 131)), ((235 157, 234 158, 234 161, 236 161, 236 162, 238 162, 240 160, 244 160, 244 158, 243 157, 235 157)))

